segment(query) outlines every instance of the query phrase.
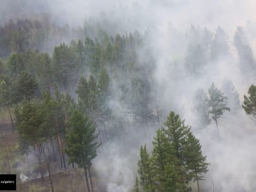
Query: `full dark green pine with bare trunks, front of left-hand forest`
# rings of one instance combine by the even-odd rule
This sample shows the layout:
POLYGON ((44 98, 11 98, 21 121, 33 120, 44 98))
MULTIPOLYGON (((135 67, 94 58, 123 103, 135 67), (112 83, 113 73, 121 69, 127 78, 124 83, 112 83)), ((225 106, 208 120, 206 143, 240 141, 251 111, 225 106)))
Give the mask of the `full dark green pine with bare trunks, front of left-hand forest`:
MULTIPOLYGON (((75 110, 71 115, 70 124, 71 128, 66 135, 65 151, 70 163, 75 162, 84 168, 87 190, 90 192, 87 171, 90 174, 91 160, 97 155, 96 149, 99 147, 99 143, 96 139, 99 132, 96 133, 96 124, 79 110, 75 110)), ((91 188, 93 190, 92 182, 91 188)))

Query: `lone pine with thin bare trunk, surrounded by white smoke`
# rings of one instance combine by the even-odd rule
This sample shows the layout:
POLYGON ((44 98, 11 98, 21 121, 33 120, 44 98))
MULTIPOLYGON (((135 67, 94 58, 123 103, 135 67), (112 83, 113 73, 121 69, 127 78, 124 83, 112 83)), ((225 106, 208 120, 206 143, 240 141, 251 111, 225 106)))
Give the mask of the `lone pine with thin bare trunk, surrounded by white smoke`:
POLYGON ((225 110, 230 111, 230 108, 227 107, 227 98, 224 94, 212 84, 212 87, 208 90, 209 99, 208 104, 210 106, 209 113, 212 114, 212 119, 216 123, 217 133, 219 138, 219 129, 218 129, 218 119, 221 118, 225 110))

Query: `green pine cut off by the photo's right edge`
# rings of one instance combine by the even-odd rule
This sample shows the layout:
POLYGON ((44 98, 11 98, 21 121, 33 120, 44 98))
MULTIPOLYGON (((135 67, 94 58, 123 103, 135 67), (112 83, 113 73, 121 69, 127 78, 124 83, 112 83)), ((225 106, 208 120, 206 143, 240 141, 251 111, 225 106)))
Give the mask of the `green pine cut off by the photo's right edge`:
POLYGON ((256 86, 251 85, 248 90, 249 96, 244 95, 243 108, 247 115, 256 116, 256 86))

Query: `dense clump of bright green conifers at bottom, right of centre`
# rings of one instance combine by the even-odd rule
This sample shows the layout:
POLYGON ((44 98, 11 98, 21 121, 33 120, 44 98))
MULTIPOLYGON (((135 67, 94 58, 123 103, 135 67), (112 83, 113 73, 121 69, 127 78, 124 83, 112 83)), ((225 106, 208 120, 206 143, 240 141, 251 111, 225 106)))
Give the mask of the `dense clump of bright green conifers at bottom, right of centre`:
POLYGON ((184 122, 170 112, 165 127, 157 130, 152 154, 141 146, 138 174, 144 191, 191 191, 188 183, 208 171, 199 140, 184 122))

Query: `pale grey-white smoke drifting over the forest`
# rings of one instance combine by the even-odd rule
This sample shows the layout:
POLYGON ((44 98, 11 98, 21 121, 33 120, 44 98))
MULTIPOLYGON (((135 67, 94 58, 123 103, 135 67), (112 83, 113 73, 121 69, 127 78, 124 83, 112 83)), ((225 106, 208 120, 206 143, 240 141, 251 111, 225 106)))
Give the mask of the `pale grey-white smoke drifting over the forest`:
MULTIPOLYGON (((138 31, 143 46, 135 51, 140 63, 138 68, 144 71, 141 78, 151 87, 149 108, 157 105, 163 121, 171 110, 185 119, 211 163, 205 180, 201 181, 201 191, 256 190, 256 125, 241 107, 249 86, 256 84, 255 1, 3 0, 1 4, 2 26, 10 19, 49 18, 59 27, 68 24, 79 30, 90 26, 113 36, 138 31), (227 96, 230 107, 230 112, 225 112, 219 120, 220 141, 215 122, 203 127, 194 107, 196 91, 203 89, 207 93, 213 82, 227 96), (235 92, 238 97, 234 97, 235 92)), ((73 38, 84 42, 85 35, 98 37, 93 30, 87 32, 63 35, 56 43, 69 44, 73 38)), ((52 54, 52 46, 40 47, 52 54)), ((77 75, 88 76, 88 73, 77 75)), ((119 81, 129 84, 132 75, 118 74, 119 81)), ((152 138, 163 126, 134 123, 136 115, 126 113, 129 101, 121 99, 120 82, 112 81, 115 93, 107 105, 113 110, 113 116, 128 119, 130 125, 123 126, 124 133, 102 144, 93 162, 99 182, 104 183, 108 192, 132 189, 139 148, 147 143, 151 151, 152 138)), ((77 87, 77 82, 73 87, 77 87)), ((72 96, 77 99, 74 90, 76 88, 72 96)))

